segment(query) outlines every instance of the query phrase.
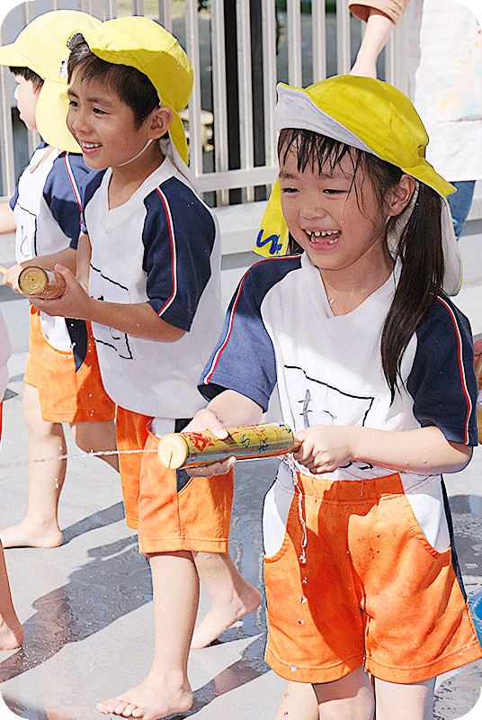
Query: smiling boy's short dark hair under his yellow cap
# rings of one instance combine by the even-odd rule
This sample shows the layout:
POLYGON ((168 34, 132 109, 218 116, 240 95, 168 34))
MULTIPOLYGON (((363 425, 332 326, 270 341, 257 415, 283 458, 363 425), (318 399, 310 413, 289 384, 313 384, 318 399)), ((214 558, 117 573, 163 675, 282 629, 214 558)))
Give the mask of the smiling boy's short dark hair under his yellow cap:
POLYGON ((134 113, 136 130, 159 105, 159 96, 155 86, 147 75, 137 67, 117 65, 98 58, 78 33, 69 42, 71 53, 67 62, 68 82, 71 82, 74 70, 78 70, 85 82, 99 80, 129 106, 134 113))

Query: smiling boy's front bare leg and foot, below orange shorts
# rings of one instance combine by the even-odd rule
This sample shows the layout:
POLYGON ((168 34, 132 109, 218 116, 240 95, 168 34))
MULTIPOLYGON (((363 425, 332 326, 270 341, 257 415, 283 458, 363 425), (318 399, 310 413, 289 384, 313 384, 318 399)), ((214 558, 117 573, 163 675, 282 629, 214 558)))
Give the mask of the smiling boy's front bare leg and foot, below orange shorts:
POLYGON ((157 720, 192 706, 187 660, 199 602, 192 554, 149 555, 154 596, 155 652, 146 680, 97 705, 101 713, 157 720))

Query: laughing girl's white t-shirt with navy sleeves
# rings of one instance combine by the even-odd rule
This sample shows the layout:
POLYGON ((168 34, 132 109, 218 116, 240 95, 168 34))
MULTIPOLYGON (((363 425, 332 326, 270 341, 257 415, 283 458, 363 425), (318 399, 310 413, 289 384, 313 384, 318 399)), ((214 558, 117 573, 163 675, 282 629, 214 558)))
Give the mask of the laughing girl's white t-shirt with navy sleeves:
MULTIPOLYGON (((391 403, 380 340, 396 276, 397 268, 358 308, 335 316, 306 254, 257 263, 231 302, 201 376, 202 394, 210 399, 231 389, 266 410, 277 383, 282 421, 295 433, 318 424, 389 431, 434 425, 451 442, 477 445, 469 321, 444 295, 406 347, 403 382, 391 403)), ((356 461, 324 477, 350 481, 387 474, 387 468, 356 461)), ((440 475, 399 474, 433 546, 448 545, 440 475)), ((280 482, 287 482, 284 470, 280 482)))

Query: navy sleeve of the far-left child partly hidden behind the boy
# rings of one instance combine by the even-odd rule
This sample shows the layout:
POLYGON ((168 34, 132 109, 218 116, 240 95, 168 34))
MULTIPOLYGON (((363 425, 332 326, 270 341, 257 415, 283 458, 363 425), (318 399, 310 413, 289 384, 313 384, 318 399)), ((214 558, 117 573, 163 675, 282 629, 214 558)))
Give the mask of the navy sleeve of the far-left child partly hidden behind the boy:
POLYGON ((89 168, 81 155, 62 153, 47 176, 43 196, 60 229, 76 242, 80 233, 80 184, 89 168))

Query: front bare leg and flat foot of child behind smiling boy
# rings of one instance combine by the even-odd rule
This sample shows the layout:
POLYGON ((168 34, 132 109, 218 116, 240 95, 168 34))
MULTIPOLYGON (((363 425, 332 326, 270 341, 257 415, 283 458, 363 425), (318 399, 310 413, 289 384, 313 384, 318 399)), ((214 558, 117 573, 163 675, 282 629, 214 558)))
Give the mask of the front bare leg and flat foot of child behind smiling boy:
POLYGON ((58 547, 63 536, 58 527, 58 498, 64 484, 67 460, 64 430, 60 423, 42 419, 37 388, 25 384, 23 418, 29 430, 29 503, 22 522, 2 530, 4 547, 58 547), (39 461, 45 462, 39 462, 39 461))

